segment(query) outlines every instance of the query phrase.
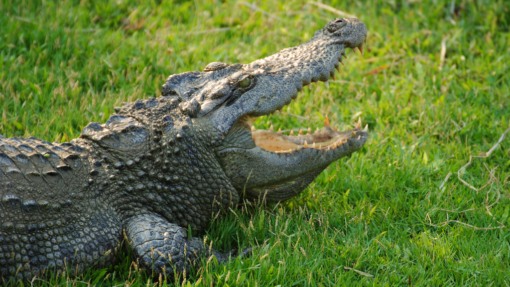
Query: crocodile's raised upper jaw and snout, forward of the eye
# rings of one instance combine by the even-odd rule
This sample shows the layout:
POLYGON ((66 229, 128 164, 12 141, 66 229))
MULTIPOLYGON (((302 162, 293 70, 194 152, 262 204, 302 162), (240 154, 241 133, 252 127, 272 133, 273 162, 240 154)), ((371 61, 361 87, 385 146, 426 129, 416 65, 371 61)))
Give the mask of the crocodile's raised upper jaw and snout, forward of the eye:
POLYGON ((359 47, 367 35, 365 24, 358 19, 335 19, 317 31, 314 37, 295 47, 242 66, 242 70, 259 78, 257 86, 245 92, 232 106, 222 106, 213 115, 220 133, 226 134, 241 116, 268 115, 281 110, 310 83, 335 80, 346 47, 359 47), (338 30, 335 21, 342 21, 338 30), (331 28, 331 26, 335 26, 331 28))

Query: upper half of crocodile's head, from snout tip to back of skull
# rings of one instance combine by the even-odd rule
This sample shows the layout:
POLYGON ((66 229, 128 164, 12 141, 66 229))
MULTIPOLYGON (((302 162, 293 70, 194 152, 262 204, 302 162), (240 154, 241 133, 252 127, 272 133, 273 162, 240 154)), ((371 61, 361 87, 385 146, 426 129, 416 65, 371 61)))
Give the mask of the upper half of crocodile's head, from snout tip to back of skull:
POLYGON ((362 21, 337 18, 311 40, 264 59, 246 65, 213 63, 203 72, 172 75, 163 85, 162 94, 175 95, 181 110, 191 117, 209 117, 225 136, 243 116, 267 115, 290 104, 305 85, 322 81, 328 86, 329 78, 335 80, 335 69, 343 64, 345 48, 359 47, 363 52, 366 35, 362 21), (211 93, 232 94, 231 78, 239 74, 251 75, 257 84, 242 94, 236 93, 235 102, 225 102, 226 97, 206 100, 211 93), (224 91, 217 90, 219 87, 224 91))

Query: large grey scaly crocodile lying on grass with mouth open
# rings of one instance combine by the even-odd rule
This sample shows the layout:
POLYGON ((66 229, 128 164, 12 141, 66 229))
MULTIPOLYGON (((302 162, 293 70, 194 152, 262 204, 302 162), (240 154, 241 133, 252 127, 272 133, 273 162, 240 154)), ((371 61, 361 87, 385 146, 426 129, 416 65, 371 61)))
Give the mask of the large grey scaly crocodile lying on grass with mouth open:
POLYGON ((366 35, 361 20, 336 18, 311 40, 249 64, 171 75, 160 97, 123 103, 70 142, 0 135, 3 283, 111 266, 124 240, 153 276, 228 260, 235 252, 188 231, 244 200, 292 198, 364 146, 361 120, 337 131, 326 117, 321 130, 297 135, 252 125, 304 86, 327 85, 347 48, 363 52, 366 35))

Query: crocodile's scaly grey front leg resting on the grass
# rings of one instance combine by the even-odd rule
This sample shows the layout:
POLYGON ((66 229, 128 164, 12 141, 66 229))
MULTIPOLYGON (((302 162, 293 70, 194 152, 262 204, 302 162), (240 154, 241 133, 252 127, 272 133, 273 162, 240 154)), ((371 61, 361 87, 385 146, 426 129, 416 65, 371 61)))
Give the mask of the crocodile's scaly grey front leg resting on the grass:
POLYGON ((131 218, 125 225, 125 232, 133 254, 152 276, 166 273, 172 277, 211 253, 218 262, 228 260, 232 254, 209 251, 200 238, 188 238, 186 229, 152 214, 131 218))

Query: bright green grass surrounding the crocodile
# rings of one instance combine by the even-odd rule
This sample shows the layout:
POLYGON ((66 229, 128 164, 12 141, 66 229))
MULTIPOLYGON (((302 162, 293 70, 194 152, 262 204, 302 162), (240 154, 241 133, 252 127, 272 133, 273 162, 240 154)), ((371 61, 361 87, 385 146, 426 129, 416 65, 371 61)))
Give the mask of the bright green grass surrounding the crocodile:
MULTIPOLYGON (((2 0, 0 134, 70 140, 124 101, 157 97, 168 75, 271 55, 336 16, 306 1, 243 3, 2 0)), ((204 259, 185 286, 510 284, 510 134, 462 174, 486 188, 455 174, 509 126, 510 5, 451 3, 327 1, 365 21, 365 56, 347 53, 329 90, 305 88, 256 127, 315 129, 327 114, 345 129, 361 116, 369 140, 299 198, 194 234, 223 251, 260 248, 226 266, 204 259)), ((126 251, 118 266, 35 283, 161 286, 131 262, 126 251)))

